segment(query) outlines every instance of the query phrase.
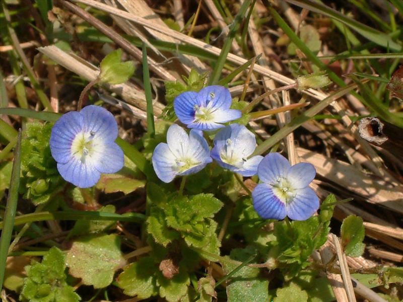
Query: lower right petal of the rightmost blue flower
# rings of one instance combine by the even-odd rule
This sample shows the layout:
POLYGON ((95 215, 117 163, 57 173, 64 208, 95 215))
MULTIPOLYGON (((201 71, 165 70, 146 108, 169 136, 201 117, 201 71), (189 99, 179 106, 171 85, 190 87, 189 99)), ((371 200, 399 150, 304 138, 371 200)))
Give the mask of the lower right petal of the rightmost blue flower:
POLYGON ((306 220, 319 208, 319 198, 311 188, 295 190, 296 196, 287 203, 287 216, 293 220, 306 220))

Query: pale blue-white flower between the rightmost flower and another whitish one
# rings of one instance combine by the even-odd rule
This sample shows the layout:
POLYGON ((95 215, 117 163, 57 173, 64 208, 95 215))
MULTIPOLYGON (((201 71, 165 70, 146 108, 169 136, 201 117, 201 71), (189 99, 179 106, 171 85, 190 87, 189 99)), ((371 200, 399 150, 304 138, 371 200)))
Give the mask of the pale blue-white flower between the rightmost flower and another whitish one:
POLYGON ((263 159, 260 155, 248 159, 255 148, 255 135, 243 125, 231 124, 220 130, 214 137, 211 156, 225 169, 242 176, 253 176, 257 173, 257 166, 263 159))

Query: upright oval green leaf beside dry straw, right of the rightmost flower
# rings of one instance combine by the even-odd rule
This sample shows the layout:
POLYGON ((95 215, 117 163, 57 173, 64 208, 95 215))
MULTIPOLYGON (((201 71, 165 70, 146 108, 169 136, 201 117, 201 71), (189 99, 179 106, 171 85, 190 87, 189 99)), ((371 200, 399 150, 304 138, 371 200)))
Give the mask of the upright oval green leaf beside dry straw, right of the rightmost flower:
POLYGON ((364 225, 361 217, 350 215, 343 220, 341 228, 342 244, 346 255, 359 257, 364 253, 364 225))

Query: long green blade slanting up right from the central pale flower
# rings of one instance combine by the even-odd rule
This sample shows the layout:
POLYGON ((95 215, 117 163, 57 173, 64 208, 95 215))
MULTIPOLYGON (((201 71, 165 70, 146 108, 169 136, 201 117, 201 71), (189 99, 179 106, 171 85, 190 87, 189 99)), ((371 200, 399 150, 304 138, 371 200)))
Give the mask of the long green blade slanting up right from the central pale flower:
MULTIPOLYGON (((365 80, 365 81, 367 81, 367 80, 365 80)), ((280 140, 282 140, 288 134, 290 134, 295 129, 297 129, 299 126, 301 126, 303 123, 310 120, 315 114, 319 113, 324 108, 326 108, 331 102, 344 96, 345 94, 349 93, 351 90, 355 89, 356 87, 357 87, 357 84, 351 84, 345 88, 342 88, 342 89, 338 90, 337 92, 329 95, 327 98, 321 100, 315 106, 309 108, 302 115, 295 117, 290 123, 285 125, 279 131, 277 131, 275 134, 273 134, 271 137, 267 138, 265 141, 263 141, 261 144, 259 144, 256 147, 255 152, 250 157, 263 154, 268 149, 270 149, 273 145, 278 143, 280 140)))

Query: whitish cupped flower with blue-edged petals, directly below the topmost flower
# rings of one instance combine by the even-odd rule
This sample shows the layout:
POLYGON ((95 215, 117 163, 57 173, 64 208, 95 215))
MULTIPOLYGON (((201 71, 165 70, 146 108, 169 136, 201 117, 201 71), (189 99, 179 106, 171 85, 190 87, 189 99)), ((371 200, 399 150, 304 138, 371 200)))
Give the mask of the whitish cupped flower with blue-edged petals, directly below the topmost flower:
POLYGON ((203 132, 192 129, 188 135, 173 124, 167 132, 167 143, 160 142, 154 149, 152 161, 158 178, 169 183, 177 175, 197 173, 213 160, 203 132))

